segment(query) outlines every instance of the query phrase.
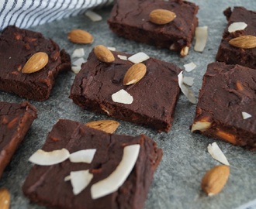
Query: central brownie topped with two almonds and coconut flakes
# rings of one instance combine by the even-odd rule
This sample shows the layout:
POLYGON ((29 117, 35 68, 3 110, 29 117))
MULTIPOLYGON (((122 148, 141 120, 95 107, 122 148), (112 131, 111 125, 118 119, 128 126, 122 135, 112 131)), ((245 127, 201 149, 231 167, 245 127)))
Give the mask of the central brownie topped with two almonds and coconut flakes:
POLYGON ((180 68, 173 63, 150 58, 143 63, 147 73, 137 84, 123 85, 126 71, 133 65, 117 56, 129 54, 112 52, 113 63, 103 63, 95 53, 81 66, 71 87, 70 98, 74 103, 89 111, 109 115, 127 122, 147 125, 158 131, 168 132, 174 120, 175 105, 180 89, 178 73, 180 68), (112 101, 112 94, 124 89, 133 96, 130 105, 112 101))

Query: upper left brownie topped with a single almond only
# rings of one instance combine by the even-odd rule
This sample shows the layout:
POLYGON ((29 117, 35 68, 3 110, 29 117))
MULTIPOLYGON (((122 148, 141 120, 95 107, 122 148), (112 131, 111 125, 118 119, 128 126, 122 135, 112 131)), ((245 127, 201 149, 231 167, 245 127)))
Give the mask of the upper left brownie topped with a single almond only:
POLYGON ((0 91, 18 94, 22 98, 46 100, 57 74, 71 68, 69 55, 41 33, 9 26, 2 31, 0 46, 0 91), (23 74, 22 67, 37 52, 47 53, 47 65, 33 74, 23 74))

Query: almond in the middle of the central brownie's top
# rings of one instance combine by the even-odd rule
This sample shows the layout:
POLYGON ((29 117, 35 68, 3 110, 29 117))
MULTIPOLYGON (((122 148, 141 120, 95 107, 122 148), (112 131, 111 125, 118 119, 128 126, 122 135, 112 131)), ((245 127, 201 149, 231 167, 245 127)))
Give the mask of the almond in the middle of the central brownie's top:
POLYGON ((144 65, 144 63, 136 63, 133 64, 132 67, 130 67, 126 74, 123 77, 123 84, 124 85, 130 85, 130 84, 136 84, 138 81, 141 80, 141 78, 144 77, 144 75, 147 72, 147 67, 144 65))

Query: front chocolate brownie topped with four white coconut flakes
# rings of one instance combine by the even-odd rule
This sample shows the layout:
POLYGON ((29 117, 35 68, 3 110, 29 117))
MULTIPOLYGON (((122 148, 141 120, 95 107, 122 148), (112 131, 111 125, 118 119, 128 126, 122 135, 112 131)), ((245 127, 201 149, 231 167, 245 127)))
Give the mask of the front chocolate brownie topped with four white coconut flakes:
POLYGON ((111 135, 88 128, 82 123, 61 119, 49 133, 44 151, 67 149, 70 153, 81 149, 96 149, 92 163, 71 163, 69 159, 54 166, 33 166, 22 187, 30 200, 54 208, 142 208, 154 170, 160 163, 162 150, 146 135, 111 135), (137 162, 130 175, 116 192, 92 199, 91 187, 106 179, 123 156, 123 148, 140 145, 137 162), (91 183, 74 195, 70 181, 64 178, 75 170, 89 170, 91 183))

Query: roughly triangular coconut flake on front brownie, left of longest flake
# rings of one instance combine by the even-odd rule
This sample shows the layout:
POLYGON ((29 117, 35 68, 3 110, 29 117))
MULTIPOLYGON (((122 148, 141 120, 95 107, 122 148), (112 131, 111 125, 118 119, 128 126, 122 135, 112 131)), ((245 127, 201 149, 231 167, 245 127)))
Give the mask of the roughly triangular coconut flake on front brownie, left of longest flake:
POLYGON ((89 170, 71 171, 71 185, 74 195, 81 193, 91 182, 93 174, 89 170))

